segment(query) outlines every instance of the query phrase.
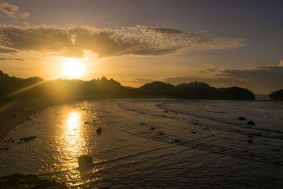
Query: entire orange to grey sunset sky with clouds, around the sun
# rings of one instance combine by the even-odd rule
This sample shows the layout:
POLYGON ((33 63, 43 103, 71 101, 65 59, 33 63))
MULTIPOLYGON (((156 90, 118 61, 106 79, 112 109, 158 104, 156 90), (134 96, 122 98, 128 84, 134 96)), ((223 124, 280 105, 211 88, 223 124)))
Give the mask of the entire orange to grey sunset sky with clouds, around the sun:
POLYGON ((283 88, 283 1, 0 1, 0 70, 124 86, 283 88), (62 74, 69 61, 81 76, 62 74))

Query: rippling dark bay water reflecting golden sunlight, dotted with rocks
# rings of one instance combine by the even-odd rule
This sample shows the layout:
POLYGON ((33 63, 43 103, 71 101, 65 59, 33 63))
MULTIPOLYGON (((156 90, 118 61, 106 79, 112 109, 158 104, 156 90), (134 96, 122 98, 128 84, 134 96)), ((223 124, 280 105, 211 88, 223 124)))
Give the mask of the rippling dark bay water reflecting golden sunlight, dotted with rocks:
POLYGON ((283 188, 283 103, 262 98, 79 101, 42 110, 6 140, 0 176, 71 188, 283 188), (79 168, 83 154, 93 164, 79 168))

